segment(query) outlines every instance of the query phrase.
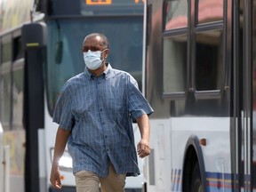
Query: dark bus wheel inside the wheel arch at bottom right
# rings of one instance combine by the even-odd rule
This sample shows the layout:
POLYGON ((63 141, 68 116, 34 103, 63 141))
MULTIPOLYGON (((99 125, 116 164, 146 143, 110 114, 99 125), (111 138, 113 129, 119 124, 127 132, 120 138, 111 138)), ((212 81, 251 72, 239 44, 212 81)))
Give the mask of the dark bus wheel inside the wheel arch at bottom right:
POLYGON ((194 165, 191 178, 191 192, 203 192, 202 179, 198 162, 194 165))

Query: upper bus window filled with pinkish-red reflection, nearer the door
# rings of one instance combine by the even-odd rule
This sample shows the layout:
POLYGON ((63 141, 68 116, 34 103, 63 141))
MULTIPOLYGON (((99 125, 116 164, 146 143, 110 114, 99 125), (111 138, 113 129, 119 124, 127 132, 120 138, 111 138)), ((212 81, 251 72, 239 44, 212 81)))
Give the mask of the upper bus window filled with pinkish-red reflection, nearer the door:
POLYGON ((223 20, 223 0, 198 0, 197 23, 209 23, 223 20))

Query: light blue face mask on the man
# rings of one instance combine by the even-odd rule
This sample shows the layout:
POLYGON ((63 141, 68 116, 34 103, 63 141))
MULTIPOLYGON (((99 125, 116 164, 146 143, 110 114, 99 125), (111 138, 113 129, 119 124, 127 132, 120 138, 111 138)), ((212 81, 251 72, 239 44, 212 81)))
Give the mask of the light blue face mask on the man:
POLYGON ((101 52, 91 52, 89 50, 88 52, 84 52, 84 63, 86 68, 89 68, 91 70, 95 70, 97 68, 100 68, 103 60, 100 60, 101 52))

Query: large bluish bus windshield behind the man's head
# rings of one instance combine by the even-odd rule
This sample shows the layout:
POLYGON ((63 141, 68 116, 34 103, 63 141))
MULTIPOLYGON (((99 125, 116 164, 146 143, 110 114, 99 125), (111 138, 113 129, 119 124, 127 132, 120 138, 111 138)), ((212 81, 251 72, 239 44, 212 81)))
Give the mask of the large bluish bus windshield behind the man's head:
POLYGON ((81 51, 84 36, 99 32, 108 37, 107 62, 112 68, 129 72, 141 89, 143 18, 89 17, 79 20, 48 20, 47 97, 50 114, 61 86, 71 76, 84 71, 81 51))

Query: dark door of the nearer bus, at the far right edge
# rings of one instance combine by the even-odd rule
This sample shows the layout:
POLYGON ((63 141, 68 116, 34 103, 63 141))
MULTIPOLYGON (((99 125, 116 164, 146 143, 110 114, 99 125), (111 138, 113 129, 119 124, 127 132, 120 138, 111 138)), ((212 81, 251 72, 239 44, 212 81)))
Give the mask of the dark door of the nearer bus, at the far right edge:
MULTIPOLYGON (((234 9, 234 114, 236 116, 236 156, 232 156, 234 189, 252 191, 255 188, 256 144, 256 60, 255 60, 255 0, 240 0, 234 9), (253 32, 254 31, 254 32, 253 32), (254 53, 253 53, 254 52, 254 53), (253 86, 252 86, 253 85, 253 86), (255 99, 254 99, 255 98, 255 99)), ((232 137, 232 136, 231 136, 232 137)), ((232 139, 231 139, 232 140, 232 139)), ((232 142, 232 141, 231 141, 232 142)), ((232 147, 231 147, 232 148, 232 147)))

